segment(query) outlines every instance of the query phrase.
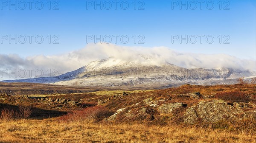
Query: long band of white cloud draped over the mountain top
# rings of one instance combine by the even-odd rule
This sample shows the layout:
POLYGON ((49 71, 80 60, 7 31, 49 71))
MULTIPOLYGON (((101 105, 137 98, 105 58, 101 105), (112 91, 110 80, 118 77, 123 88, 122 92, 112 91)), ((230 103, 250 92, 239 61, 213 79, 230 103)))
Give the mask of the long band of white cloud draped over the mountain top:
MULTIPOLYGON (((106 59, 108 57, 115 57, 117 59, 124 60, 140 60, 139 55, 148 55, 153 58, 154 63, 162 64, 169 62, 177 66, 186 68, 233 68, 240 70, 255 71, 256 62, 248 59, 239 59, 234 56, 226 54, 197 54, 197 53, 180 53, 167 47, 127 47, 113 44, 88 44, 85 48, 71 51, 70 53, 62 55, 44 56, 35 55, 28 56, 25 59, 21 58, 17 54, 1 54, 0 55, 0 67, 2 69, 42 69, 46 71, 48 69, 58 69, 61 73, 66 73, 72 70, 76 70, 88 64, 91 61, 106 59)), ((4 79, 15 79, 2 77, 4 79)), ((4 75, 6 76, 6 75, 4 75)), ((27 76, 26 76, 27 78, 27 76)))

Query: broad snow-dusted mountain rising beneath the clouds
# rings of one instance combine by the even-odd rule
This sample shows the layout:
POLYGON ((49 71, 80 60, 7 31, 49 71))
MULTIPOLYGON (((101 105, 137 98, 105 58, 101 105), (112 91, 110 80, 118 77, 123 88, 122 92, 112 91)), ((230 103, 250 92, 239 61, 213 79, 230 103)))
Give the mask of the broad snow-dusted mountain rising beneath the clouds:
POLYGON ((180 84, 234 84, 240 77, 255 77, 255 72, 234 69, 187 69, 165 61, 140 55, 136 60, 110 57, 93 61, 84 67, 54 77, 5 80, 86 87, 153 87, 164 88, 180 84))

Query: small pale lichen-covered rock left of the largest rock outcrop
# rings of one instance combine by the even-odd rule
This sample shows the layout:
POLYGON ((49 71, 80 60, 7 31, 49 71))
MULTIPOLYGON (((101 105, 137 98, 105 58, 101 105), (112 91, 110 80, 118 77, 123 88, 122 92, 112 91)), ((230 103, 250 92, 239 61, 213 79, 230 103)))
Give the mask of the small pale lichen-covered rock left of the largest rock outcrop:
POLYGON ((180 107, 186 107, 186 104, 183 103, 168 103, 168 104, 162 104, 160 105, 160 107, 158 108, 158 110, 161 113, 172 113, 173 110, 180 108, 180 107))

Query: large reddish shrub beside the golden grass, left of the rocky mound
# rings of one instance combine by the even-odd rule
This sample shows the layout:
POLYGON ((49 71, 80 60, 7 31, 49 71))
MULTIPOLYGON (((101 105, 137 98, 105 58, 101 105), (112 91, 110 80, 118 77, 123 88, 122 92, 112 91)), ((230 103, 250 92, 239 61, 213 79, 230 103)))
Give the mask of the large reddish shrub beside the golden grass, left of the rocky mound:
POLYGON ((91 121, 101 121, 104 118, 113 115, 109 109, 103 106, 95 106, 95 107, 87 107, 80 111, 75 111, 72 113, 68 113, 60 118, 60 121, 83 121, 83 120, 91 120, 91 121))

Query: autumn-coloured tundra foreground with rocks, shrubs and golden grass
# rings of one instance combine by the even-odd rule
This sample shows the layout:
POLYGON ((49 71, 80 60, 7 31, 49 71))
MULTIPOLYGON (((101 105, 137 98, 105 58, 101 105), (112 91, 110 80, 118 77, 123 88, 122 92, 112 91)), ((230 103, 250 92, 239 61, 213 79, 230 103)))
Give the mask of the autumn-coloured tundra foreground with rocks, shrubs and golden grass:
POLYGON ((255 143, 256 84, 45 95, 1 90, 0 142, 255 143))

